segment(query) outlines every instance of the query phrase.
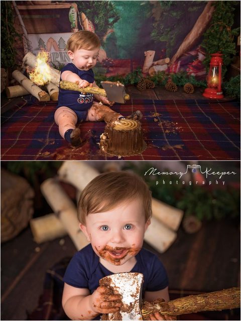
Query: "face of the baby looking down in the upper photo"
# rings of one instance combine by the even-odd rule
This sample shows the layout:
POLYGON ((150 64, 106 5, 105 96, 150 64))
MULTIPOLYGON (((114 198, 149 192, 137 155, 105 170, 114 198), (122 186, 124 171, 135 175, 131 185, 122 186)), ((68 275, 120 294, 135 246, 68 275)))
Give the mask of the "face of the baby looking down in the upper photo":
POLYGON ((80 70, 89 70, 97 62, 99 48, 94 50, 77 49, 74 52, 68 51, 68 55, 73 64, 80 70))

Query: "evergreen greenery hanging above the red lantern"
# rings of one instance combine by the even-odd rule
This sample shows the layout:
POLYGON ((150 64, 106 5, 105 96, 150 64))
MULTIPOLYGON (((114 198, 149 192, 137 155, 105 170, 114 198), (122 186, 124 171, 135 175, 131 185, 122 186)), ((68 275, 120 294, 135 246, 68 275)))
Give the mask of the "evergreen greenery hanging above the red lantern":
POLYGON ((236 54, 235 38, 240 33, 240 28, 231 29, 233 25, 235 6, 237 1, 216 1, 213 3, 215 10, 212 15, 210 27, 203 34, 201 46, 206 49, 207 57, 203 64, 209 69, 211 54, 221 52, 223 59, 222 77, 231 63, 232 57, 236 54))

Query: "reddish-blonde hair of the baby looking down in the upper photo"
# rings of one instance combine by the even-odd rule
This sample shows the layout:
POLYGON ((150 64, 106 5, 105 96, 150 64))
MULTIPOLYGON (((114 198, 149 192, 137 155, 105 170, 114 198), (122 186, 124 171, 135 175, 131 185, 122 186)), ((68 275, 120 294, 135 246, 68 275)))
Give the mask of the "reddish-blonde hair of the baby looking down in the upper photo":
POLYGON ((67 42, 67 51, 70 50, 74 52, 78 49, 85 49, 85 50, 94 50, 100 47, 100 40, 91 31, 82 30, 75 32, 67 42))

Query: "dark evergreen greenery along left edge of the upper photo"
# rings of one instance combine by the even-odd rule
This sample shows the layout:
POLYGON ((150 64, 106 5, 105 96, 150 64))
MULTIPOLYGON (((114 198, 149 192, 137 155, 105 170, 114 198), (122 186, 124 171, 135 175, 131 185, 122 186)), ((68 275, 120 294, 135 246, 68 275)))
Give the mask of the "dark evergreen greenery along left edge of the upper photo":
POLYGON ((17 51, 15 37, 20 37, 14 28, 12 1, 1 2, 1 67, 15 68, 17 51))

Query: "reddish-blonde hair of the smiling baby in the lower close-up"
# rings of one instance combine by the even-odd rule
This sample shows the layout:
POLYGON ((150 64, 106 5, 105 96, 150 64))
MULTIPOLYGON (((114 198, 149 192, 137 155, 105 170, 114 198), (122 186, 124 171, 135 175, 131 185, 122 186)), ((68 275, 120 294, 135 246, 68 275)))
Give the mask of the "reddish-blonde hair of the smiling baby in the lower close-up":
POLYGON ((145 181, 129 172, 104 173, 94 178, 80 194, 78 219, 86 223, 90 213, 107 212, 120 203, 138 198, 143 203, 146 222, 152 216, 152 197, 145 181))

